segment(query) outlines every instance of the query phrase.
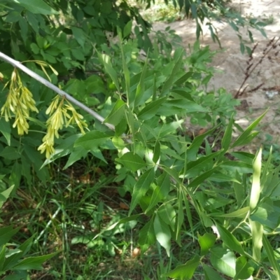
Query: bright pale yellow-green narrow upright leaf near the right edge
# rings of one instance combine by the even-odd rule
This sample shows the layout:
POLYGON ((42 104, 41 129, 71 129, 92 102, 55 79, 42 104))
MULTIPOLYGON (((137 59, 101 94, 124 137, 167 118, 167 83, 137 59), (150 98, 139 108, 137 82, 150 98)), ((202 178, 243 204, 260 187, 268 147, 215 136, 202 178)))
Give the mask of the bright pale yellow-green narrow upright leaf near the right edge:
POLYGON ((258 151, 253 161, 253 181, 250 196, 250 210, 251 212, 257 207, 260 199, 260 169, 262 168, 262 149, 258 151))

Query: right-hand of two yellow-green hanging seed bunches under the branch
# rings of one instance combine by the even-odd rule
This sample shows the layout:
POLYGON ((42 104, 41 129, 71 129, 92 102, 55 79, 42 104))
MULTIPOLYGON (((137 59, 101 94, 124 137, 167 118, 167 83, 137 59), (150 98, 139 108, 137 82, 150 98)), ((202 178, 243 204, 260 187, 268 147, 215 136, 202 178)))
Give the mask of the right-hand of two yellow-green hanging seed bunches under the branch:
POLYGON ((38 147, 38 151, 45 152, 45 157, 50 158, 55 153, 55 137, 59 138, 58 131, 62 130, 62 127, 68 127, 71 123, 76 123, 80 132, 85 134, 84 127, 87 127, 87 124, 83 121, 83 116, 77 113, 71 103, 58 95, 52 99, 52 103, 45 113, 50 115, 46 123, 48 128, 45 137, 43 137, 43 144, 38 147))

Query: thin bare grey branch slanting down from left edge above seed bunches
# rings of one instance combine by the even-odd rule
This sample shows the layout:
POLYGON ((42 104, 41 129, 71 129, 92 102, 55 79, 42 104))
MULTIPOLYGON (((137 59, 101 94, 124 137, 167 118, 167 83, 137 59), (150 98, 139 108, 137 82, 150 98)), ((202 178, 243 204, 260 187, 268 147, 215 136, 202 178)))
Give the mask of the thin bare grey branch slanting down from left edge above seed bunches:
MULTIPOLYGON (((71 95, 68 94, 67 92, 64 92, 64 90, 60 90, 57 86, 52 85, 52 83, 50 83, 48 80, 45 80, 45 78, 42 78, 38 74, 34 73, 34 71, 31 71, 30 69, 28 69, 26 66, 22 65, 17 60, 8 57, 8 55, 4 55, 3 52, 0 52, 0 59, 2 59, 4 62, 8 62, 8 64, 11 64, 18 69, 24 71, 25 73, 27 73, 27 75, 31 76, 35 80, 38 80, 39 83, 42 83, 46 87, 49 87, 51 90, 53 90, 54 92, 59 94, 61 97, 64 97, 69 102, 71 102, 71 103, 75 104, 76 106, 80 107, 80 109, 83 109, 84 111, 89 113, 91 116, 93 116, 94 118, 99 120, 101 123, 104 122, 105 119, 102 116, 100 116, 98 113, 96 113, 92 109, 88 108, 87 106, 85 106, 85 104, 79 102, 77 99, 71 97, 71 95)), ((110 130, 115 130, 114 125, 111 125, 110 123, 104 123, 104 125, 109 127, 110 130)))

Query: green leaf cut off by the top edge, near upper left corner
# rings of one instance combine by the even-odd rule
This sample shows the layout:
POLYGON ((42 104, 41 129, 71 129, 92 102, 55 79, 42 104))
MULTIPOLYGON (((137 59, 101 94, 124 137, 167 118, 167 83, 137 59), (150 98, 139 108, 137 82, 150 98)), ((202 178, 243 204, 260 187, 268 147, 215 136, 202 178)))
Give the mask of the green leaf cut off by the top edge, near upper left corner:
POLYGON ((58 15, 59 13, 48 6, 43 0, 12 0, 18 5, 26 8, 31 13, 39 13, 41 15, 58 15))

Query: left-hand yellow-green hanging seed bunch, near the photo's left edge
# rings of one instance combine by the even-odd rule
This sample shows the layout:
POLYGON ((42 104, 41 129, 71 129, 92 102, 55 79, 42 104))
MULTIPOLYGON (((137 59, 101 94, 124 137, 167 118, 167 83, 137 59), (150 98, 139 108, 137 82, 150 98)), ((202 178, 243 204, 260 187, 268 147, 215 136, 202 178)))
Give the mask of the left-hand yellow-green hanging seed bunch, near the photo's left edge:
MULTIPOLYGON (((31 92, 22 84, 18 71, 14 69, 10 79, 10 87, 7 99, 1 108, 1 116, 5 117, 6 122, 15 116, 13 127, 18 128, 18 134, 23 135, 28 133, 29 125, 27 120, 30 111, 38 113, 35 100, 31 92)), ((5 87, 8 85, 6 83, 5 87)))

